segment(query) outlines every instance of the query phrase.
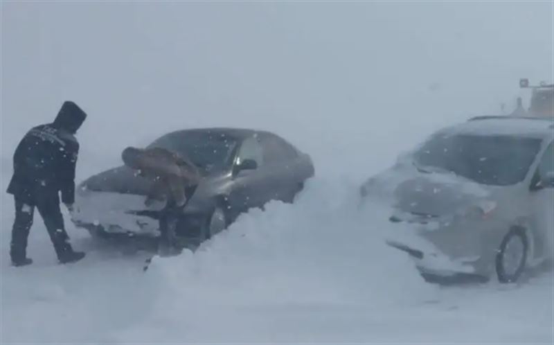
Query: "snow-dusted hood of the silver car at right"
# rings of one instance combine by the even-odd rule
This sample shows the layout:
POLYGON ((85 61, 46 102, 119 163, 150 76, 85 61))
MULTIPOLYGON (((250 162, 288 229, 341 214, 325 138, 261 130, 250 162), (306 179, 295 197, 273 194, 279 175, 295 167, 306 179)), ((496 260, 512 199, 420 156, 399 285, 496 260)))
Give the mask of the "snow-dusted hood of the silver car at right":
POLYGON ((398 184, 394 206, 402 212, 437 217, 456 213, 488 195, 487 188, 463 177, 429 173, 398 184))

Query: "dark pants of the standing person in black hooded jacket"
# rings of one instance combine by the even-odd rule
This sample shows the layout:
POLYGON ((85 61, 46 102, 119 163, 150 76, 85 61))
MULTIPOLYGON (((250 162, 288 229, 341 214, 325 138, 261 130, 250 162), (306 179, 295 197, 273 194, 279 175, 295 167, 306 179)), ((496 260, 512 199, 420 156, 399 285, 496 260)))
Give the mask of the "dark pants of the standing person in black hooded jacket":
POLYGON ((10 256, 12 261, 20 261, 26 258, 27 239, 30 227, 33 225, 35 208, 39 211, 48 235, 52 240, 57 257, 71 251, 69 236, 64 227, 64 218, 60 210, 60 200, 51 197, 37 202, 24 202, 15 197, 15 222, 12 228, 12 242, 10 244, 10 256))

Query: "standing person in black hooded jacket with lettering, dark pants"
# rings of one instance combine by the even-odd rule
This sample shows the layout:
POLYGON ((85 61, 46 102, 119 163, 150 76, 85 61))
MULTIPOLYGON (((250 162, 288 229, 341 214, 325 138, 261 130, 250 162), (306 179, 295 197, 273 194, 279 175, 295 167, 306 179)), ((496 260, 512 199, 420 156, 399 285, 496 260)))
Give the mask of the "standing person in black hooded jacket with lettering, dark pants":
POLYGON ((62 105, 53 123, 33 127, 21 139, 13 157, 14 174, 8 193, 15 198, 10 257, 12 265, 30 265, 26 247, 35 208, 39 211, 60 263, 84 258, 73 251, 60 211, 62 202, 71 212, 75 201, 75 163, 79 143, 75 133, 87 114, 71 101, 62 105))

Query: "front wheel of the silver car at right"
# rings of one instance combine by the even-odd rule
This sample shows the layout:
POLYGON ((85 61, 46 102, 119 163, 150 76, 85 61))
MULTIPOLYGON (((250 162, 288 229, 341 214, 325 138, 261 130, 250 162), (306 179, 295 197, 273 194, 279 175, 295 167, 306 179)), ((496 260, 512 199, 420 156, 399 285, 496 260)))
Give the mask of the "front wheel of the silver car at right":
POLYGON ((515 283, 527 263, 528 243, 524 229, 511 229, 497 252, 496 268, 500 283, 515 283))

